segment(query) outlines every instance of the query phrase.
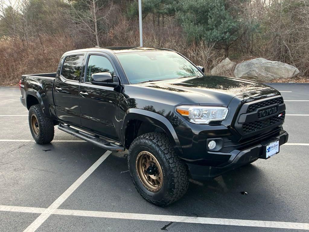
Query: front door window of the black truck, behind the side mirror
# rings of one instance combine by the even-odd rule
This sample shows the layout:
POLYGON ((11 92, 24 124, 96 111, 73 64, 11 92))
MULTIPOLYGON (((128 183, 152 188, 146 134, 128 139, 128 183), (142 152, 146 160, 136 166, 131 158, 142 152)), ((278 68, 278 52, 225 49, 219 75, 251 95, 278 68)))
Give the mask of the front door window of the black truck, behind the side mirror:
POLYGON ((114 75, 114 68, 108 58, 99 55, 90 55, 87 65, 86 82, 90 82, 91 75, 98 72, 109 72, 114 75))

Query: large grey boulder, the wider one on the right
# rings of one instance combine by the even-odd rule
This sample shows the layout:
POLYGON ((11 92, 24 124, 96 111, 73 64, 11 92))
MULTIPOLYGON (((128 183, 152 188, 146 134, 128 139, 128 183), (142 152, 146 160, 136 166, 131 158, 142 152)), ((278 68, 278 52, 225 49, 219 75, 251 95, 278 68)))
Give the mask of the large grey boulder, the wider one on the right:
POLYGON ((239 63, 234 70, 234 77, 261 82, 268 82, 278 78, 293 78, 298 74, 299 70, 292 65, 264 58, 239 63))

